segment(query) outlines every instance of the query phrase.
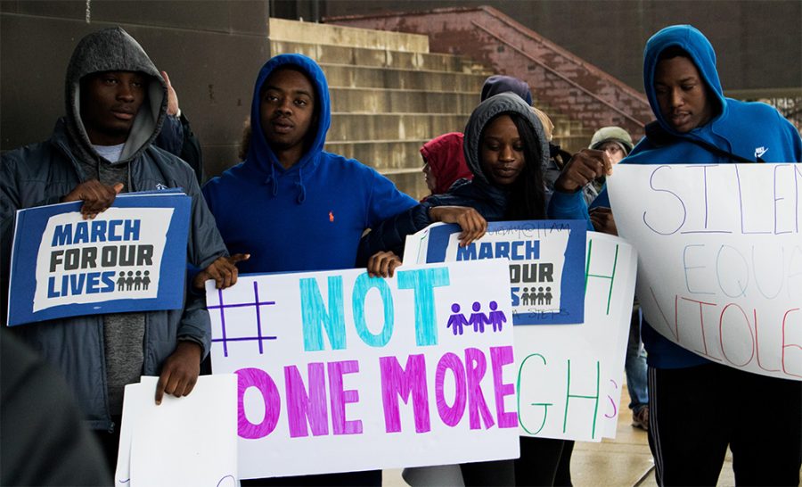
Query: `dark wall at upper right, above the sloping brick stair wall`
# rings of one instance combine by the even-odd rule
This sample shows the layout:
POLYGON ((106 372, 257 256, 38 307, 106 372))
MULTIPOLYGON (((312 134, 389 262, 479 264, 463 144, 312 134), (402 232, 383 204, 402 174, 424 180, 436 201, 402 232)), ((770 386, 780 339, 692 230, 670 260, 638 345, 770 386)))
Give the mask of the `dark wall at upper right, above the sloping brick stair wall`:
POLYGON ((321 12, 338 16, 478 5, 495 7, 641 91, 646 40, 677 23, 690 23, 708 36, 725 90, 802 87, 799 0, 323 0, 321 12))

